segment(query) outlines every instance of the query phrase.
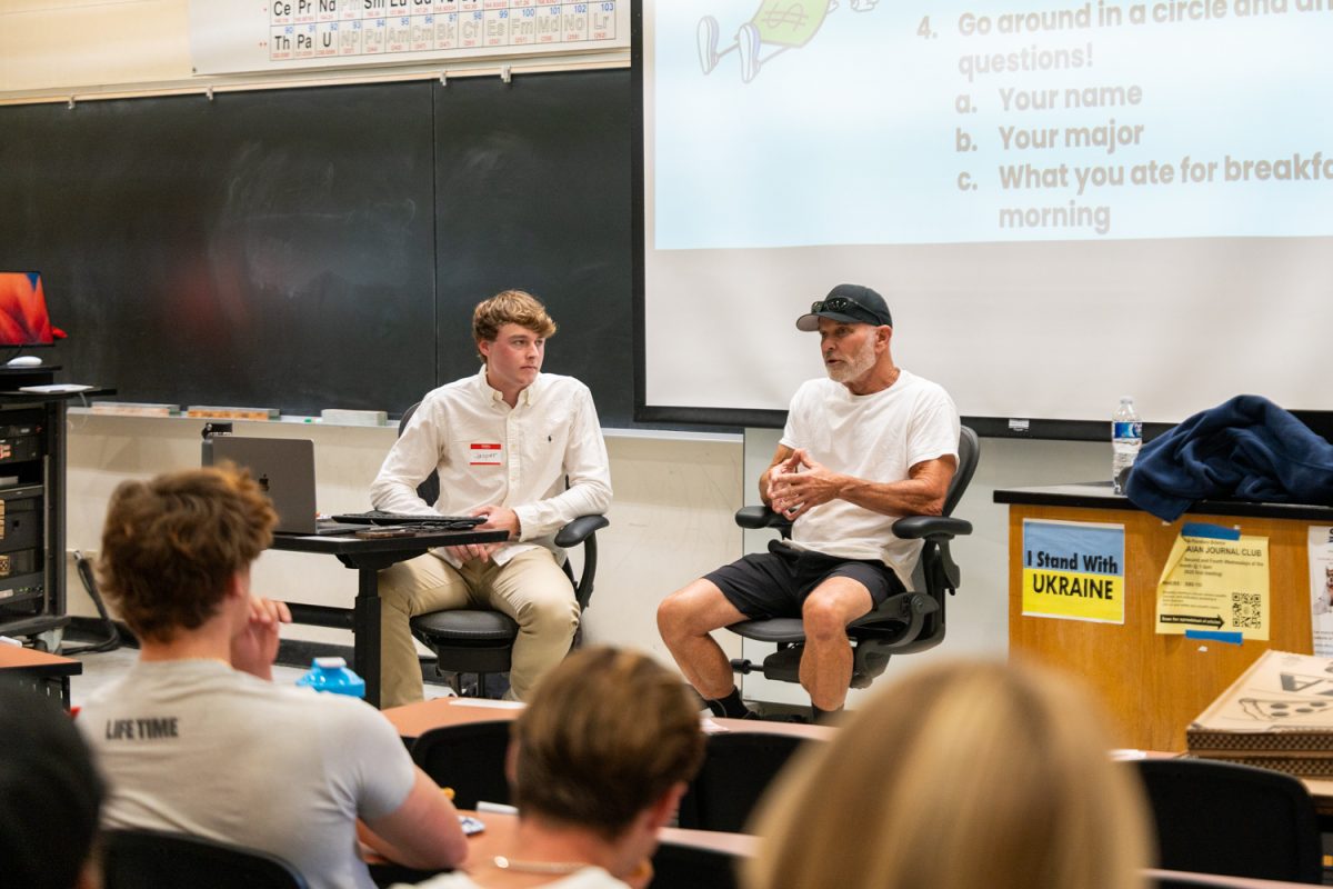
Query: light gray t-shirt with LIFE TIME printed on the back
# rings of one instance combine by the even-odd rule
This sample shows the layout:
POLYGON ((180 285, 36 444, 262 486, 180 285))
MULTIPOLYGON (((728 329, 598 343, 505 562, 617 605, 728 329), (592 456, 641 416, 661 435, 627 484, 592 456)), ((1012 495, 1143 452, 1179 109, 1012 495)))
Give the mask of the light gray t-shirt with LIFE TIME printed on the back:
POLYGON ((104 828, 269 852, 312 889, 373 889, 356 818, 396 812, 416 781, 393 725, 364 701, 221 661, 140 661, 76 724, 109 784, 104 828))

